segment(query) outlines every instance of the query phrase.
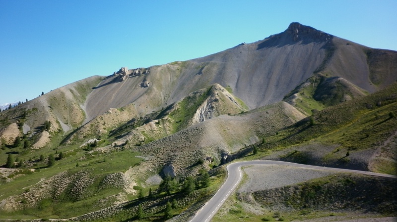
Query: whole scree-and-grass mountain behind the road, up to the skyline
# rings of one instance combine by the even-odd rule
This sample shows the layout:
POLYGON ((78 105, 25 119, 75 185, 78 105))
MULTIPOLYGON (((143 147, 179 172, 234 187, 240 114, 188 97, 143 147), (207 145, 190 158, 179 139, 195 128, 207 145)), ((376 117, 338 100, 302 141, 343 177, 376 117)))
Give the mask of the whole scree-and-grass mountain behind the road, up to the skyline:
POLYGON ((68 84, 0 112, 0 220, 126 221, 141 203, 155 221, 172 199, 175 214, 192 213, 238 158, 396 175, 396 81, 396 51, 291 23, 202 58, 68 84))

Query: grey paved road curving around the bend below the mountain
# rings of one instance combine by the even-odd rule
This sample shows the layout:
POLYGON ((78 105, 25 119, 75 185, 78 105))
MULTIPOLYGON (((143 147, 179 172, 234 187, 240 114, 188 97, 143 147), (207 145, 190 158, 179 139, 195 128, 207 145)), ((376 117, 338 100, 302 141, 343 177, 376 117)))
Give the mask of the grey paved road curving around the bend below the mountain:
POLYGON ((319 166, 311 166, 283 161, 274 161, 274 160, 253 160, 253 161, 245 161, 245 162, 236 162, 229 164, 226 169, 228 172, 228 177, 225 183, 220 187, 220 189, 215 193, 215 195, 199 210, 196 216, 190 222, 209 222, 211 218, 215 215, 215 213, 220 209, 222 204, 226 201, 229 195, 236 188, 237 184, 241 181, 242 172, 241 167, 247 165, 259 165, 259 164, 277 164, 277 165, 285 165, 285 166, 293 166, 293 167, 303 167, 310 169, 318 169, 318 170, 331 170, 335 172, 347 172, 347 173, 359 173, 366 175, 374 175, 388 178, 397 178, 396 176, 387 175, 387 174, 378 174, 367 171, 356 171, 356 170, 347 170, 347 169, 339 169, 339 168, 329 168, 329 167, 319 167, 319 166))

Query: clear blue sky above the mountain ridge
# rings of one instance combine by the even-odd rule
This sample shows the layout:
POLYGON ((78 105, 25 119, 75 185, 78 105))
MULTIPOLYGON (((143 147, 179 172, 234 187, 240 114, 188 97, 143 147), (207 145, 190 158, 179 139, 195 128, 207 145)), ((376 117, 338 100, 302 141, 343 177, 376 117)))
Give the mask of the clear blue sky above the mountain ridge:
POLYGON ((397 0, 0 0, 0 104, 252 43, 291 22, 397 50, 396 10, 397 0))

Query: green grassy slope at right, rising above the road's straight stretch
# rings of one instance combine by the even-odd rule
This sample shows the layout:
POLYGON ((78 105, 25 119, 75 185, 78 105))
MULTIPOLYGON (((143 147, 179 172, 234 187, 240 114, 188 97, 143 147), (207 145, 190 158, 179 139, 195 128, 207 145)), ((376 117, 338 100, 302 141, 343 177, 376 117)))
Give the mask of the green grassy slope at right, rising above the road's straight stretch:
MULTIPOLYGON (((397 118, 390 118, 390 113, 397 113, 396 91, 397 84, 393 84, 365 97, 326 108, 267 137, 262 149, 289 147, 292 158, 308 154, 299 151, 306 146, 318 150, 331 148, 322 151, 322 161, 317 164, 337 164, 341 160, 348 164, 350 157, 345 158, 347 151, 357 155, 366 153, 362 157, 366 165, 364 169, 396 175, 396 159, 391 147, 396 140, 397 118)), ((299 161, 299 158, 290 161, 299 161)), ((310 162, 310 157, 305 158, 310 162)))

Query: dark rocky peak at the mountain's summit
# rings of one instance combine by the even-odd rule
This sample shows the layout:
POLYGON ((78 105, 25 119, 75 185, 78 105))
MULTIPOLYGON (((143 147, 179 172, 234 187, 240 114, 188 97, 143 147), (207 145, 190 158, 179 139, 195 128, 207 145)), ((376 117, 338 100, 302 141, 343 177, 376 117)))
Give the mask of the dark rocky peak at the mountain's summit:
POLYGON ((328 33, 310 26, 302 25, 299 22, 292 22, 289 24, 288 29, 285 30, 284 33, 289 35, 295 42, 302 40, 327 41, 332 37, 332 35, 328 33))

